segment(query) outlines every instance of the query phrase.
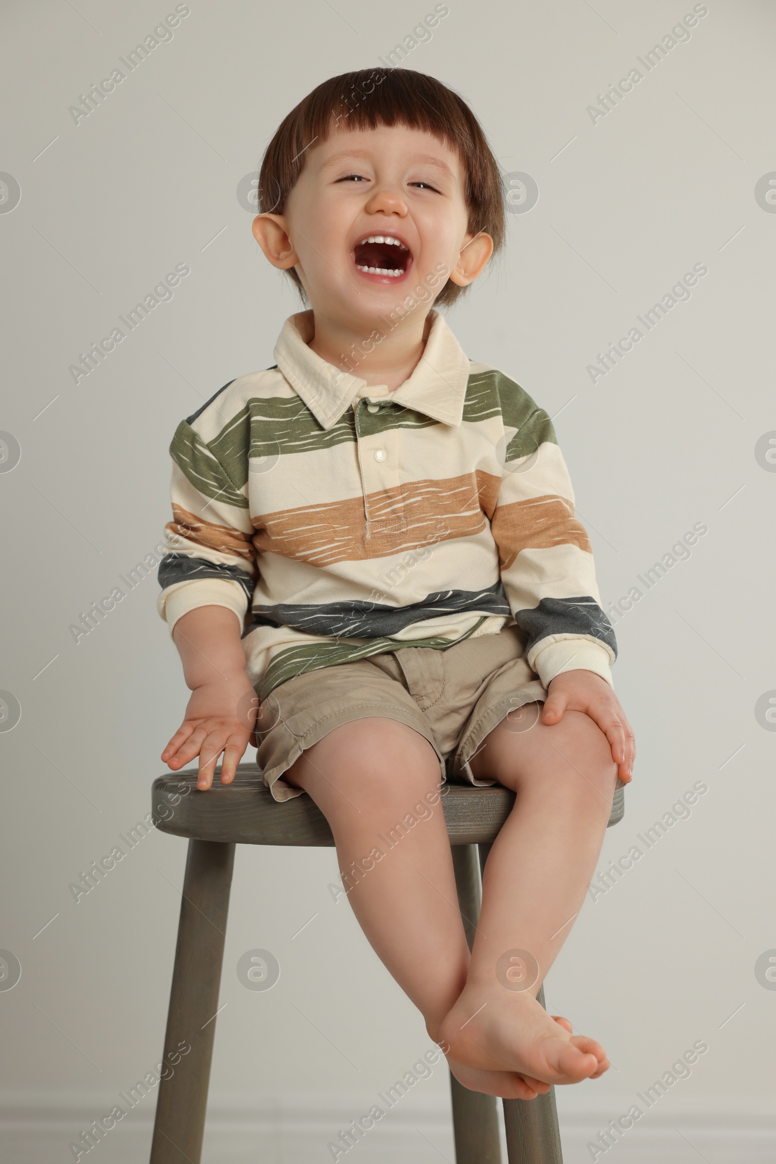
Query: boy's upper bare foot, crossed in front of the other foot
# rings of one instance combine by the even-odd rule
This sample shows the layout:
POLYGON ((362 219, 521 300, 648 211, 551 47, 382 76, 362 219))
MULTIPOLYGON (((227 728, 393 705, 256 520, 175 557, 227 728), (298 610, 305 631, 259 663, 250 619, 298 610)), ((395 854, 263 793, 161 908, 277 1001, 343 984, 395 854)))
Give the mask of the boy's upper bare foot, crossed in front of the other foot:
POLYGON ((456 1064, 521 1076, 536 1091, 537 1083, 574 1084, 607 1070, 600 1043, 571 1029, 568 1020, 548 1015, 528 991, 467 984, 442 1021, 440 1043, 449 1046, 456 1064))

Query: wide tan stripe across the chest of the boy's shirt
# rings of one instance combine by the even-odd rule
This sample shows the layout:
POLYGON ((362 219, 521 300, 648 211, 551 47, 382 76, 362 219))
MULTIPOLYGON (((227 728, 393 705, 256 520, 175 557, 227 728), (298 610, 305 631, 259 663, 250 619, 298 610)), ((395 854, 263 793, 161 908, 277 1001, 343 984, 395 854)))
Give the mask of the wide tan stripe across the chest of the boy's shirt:
POLYGON ((255 517, 258 553, 312 566, 364 561, 418 549, 485 528, 499 478, 467 473, 441 481, 412 481, 364 497, 302 505, 255 517), (366 523, 364 501, 369 508, 366 523))

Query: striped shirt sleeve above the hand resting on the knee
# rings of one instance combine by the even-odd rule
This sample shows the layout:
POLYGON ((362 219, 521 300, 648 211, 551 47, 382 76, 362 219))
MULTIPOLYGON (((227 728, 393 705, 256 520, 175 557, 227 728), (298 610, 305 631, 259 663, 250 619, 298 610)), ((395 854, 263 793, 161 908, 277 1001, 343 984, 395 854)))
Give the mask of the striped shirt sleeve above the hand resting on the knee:
POLYGON ((610 684, 617 658, 600 608, 590 541, 553 423, 512 381, 500 381, 505 455, 491 530, 527 661, 544 687, 562 670, 592 670, 610 684))

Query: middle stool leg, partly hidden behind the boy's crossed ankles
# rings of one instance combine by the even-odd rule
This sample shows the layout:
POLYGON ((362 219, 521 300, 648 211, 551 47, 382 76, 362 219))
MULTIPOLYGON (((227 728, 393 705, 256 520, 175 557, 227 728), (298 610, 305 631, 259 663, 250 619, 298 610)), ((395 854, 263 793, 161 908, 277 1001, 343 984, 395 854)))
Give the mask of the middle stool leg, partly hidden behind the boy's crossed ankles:
MULTIPOLYGON (((479 917, 479 871, 476 845, 451 845, 455 883, 467 942, 471 950, 479 917)), ((501 1164, 494 1095, 472 1092, 450 1074, 456 1164, 501 1164)))

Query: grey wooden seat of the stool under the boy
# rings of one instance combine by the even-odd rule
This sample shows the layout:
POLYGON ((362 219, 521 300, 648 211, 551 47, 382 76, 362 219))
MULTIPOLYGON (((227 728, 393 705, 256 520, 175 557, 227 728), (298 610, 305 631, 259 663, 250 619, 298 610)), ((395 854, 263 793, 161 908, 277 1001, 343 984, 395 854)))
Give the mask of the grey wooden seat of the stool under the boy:
MULTIPOLYGON (((197 840, 239 845, 334 846, 328 821, 306 793, 276 801, 255 764, 237 765, 230 785, 197 789, 197 773, 165 773, 154 781, 152 805, 162 832, 197 840), (164 807, 163 807, 164 805, 164 807), (169 815, 169 810, 172 814, 169 815)), ((441 803, 451 845, 492 844, 514 804, 514 793, 501 785, 443 785, 441 803)), ((618 780, 608 826, 622 819, 625 785, 618 780)))

